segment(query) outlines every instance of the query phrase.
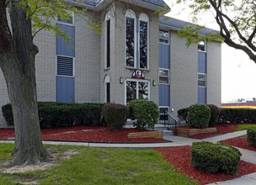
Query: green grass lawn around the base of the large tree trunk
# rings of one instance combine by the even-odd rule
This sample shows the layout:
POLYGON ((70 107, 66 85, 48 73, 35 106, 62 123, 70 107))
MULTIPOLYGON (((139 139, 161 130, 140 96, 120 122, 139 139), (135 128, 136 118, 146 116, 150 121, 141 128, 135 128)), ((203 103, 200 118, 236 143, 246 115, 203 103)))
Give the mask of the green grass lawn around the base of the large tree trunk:
MULTIPOLYGON (((77 151, 69 160, 44 171, 1 173, 0 184, 196 184, 182 174, 173 172, 157 151, 90 148, 83 146, 47 146, 55 153, 77 151)), ((7 155, 11 144, 0 144, 0 160, 11 159, 7 155), (3 149, 5 148, 5 149, 3 149)), ((0 168, 1 170, 1 168, 0 168)), ((176 170, 175 170, 176 171, 176 170)))

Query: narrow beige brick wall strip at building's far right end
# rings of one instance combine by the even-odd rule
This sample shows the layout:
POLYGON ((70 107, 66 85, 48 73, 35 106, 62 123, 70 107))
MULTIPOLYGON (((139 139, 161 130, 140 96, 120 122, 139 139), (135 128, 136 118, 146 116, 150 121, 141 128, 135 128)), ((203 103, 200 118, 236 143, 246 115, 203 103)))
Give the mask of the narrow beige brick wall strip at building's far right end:
POLYGON ((221 44, 207 42, 207 103, 221 107, 221 44))

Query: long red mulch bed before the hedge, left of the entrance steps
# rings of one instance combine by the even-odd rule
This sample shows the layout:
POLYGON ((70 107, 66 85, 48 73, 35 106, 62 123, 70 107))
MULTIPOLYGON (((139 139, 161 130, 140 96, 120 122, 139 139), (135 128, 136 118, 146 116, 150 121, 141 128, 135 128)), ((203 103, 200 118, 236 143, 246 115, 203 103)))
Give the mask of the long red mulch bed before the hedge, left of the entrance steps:
MULTIPOLYGON (((165 142, 161 138, 128 138, 130 132, 144 132, 139 129, 111 130, 108 127, 74 126, 56 129, 41 129, 42 140, 69 140, 84 142, 165 142)), ((14 137, 14 129, 0 129, 0 140, 14 137)))

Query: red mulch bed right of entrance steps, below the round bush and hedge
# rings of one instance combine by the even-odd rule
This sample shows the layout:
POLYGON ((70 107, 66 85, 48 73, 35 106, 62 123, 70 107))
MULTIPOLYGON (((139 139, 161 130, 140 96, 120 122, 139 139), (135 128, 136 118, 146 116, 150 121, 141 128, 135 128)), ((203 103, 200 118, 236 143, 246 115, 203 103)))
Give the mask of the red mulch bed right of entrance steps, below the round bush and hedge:
MULTIPOLYGON (((204 134, 198 134, 198 135, 190 135, 190 138, 195 138, 195 139, 204 139, 206 137, 211 137, 214 135, 223 135, 231 132, 237 131, 237 125, 238 124, 243 124, 243 123, 236 123, 236 124, 216 124, 216 129, 217 131, 214 133, 204 133, 204 134)), ((193 127, 189 126, 184 126, 180 127, 184 129, 195 129, 193 127)))

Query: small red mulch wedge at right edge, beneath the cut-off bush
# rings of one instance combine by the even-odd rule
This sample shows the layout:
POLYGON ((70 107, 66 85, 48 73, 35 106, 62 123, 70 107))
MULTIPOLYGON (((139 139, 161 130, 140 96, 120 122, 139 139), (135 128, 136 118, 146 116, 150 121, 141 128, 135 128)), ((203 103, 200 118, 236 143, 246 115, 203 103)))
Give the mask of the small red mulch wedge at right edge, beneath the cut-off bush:
POLYGON ((226 143, 228 145, 237 146, 239 148, 243 148, 249 151, 256 151, 256 147, 249 143, 247 139, 244 137, 237 137, 229 140, 221 140, 220 143, 226 143))

